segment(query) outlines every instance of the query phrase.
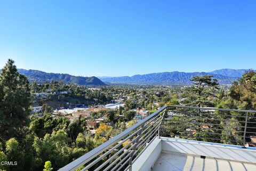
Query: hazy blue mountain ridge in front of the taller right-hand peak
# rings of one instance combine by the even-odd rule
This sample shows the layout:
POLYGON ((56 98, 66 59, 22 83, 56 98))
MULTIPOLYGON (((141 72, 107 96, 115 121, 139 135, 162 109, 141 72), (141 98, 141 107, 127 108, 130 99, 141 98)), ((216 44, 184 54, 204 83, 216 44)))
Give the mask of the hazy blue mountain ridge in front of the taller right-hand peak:
POLYGON ((165 84, 165 85, 189 85, 190 79, 195 76, 213 75, 220 84, 231 84, 238 77, 228 77, 219 74, 209 74, 207 72, 161 72, 146 75, 134 75, 132 77, 111 77, 101 78, 103 82, 112 84, 165 84))

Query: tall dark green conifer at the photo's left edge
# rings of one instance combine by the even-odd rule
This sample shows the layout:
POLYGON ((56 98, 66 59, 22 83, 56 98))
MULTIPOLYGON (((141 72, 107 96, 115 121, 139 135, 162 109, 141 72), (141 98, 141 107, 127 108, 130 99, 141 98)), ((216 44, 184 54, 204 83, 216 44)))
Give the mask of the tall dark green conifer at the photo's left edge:
POLYGON ((14 61, 9 59, 0 75, 1 136, 17 137, 22 134, 21 129, 29 123, 29 105, 28 79, 19 74, 14 61))

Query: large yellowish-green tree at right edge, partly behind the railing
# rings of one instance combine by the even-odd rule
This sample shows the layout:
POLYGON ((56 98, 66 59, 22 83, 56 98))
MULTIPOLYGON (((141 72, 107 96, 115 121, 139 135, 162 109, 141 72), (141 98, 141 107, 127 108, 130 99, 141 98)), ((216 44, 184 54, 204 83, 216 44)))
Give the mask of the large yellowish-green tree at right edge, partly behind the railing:
MULTIPOLYGON (((234 82, 230 87, 230 92, 227 96, 222 97, 221 100, 217 103, 217 108, 229 108, 229 109, 244 109, 244 110, 256 110, 256 72, 248 71, 241 78, 238 79, 237 82, 234 82)), ((236 140, 241 141, 239 137, 230 136, 230 135, 243 135, 241 131, 244 126, 244 118, 236 117, 236 116, 245 116, 244 112, 221 112, 222 119, 226 119, 227 121, 222 121, 221 125, 223 129, 227 129, 230 131, 222 131, 222 139, 226 139, 224 143, 234 144, 234 142, 230 142, 228 140, 236 140), (225 116, 227 115, 227 116, 225 116), (229 116, 228 116, 229 115, 229 116), (233 121, 239 120, 241 122, 233 121), (235 125, 235 126, 234 126, 235 125), (240 132, 239 132, 240 131, 240 132), (230 138, 231 137, 231 138, 230 138)), ((249 112, 249 118, 247 123, 247 132, 255 132, 255 113, 249 112)), ((246 136, 251 136, 253 134, 247 133, 246 136)))

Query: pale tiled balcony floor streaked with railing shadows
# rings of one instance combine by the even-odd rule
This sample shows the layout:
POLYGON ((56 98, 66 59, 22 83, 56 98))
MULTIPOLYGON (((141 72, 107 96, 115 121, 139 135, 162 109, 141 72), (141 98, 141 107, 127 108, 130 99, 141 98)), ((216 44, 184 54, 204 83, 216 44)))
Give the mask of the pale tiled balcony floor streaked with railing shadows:
POLYGON ((256 171, 256 164, 161 153, 153 171, 256 171))

